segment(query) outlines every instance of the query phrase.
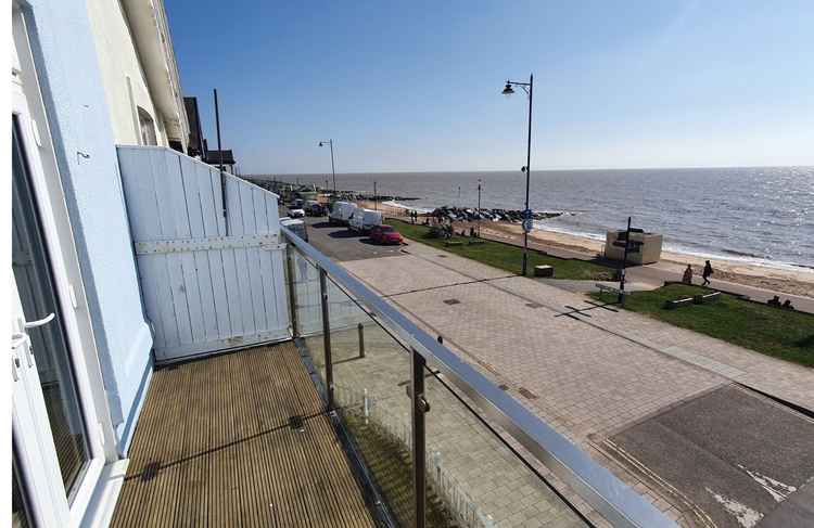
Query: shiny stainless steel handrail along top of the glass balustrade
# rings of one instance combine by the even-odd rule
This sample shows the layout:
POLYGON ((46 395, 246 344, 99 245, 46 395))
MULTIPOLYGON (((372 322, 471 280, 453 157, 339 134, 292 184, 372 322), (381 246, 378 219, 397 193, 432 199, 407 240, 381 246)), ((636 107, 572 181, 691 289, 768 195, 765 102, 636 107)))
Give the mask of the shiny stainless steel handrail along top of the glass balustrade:
POLYGON ((317 248, 281 228, 285 239, 352 293, 370 313, 415 348, 486 416, 503 427, 537 460, 571 486, 606 520, 625 528, 677 528, 650 502, 610 471, 597 464, 565 437, 532 414, 520 402, 465 363, 455 352, 419 329, 381 296, 351 275, 317 248))

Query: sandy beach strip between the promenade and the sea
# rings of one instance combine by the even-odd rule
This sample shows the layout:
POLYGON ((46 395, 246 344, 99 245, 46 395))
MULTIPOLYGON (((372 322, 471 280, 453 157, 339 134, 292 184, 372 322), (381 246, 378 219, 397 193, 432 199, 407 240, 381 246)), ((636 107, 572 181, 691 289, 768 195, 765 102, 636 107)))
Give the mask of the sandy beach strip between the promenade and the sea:
MULTIPOLYGON (((374 205, 378 205, 379 210, 384 216, 398 219, 407 219, 406 211, 409 210, 409 207, 398 207, 387 203, 373 204, 369 201, 358 201, 357 204, 360 207, 371 209, 374 208, 374 205)), ((468 229, 469 223, 455 222, 455 228, 468 229)), ((519 224, 503 221, 484 221, 481 223, 481 232, 496 240, 518 244, 522 241, 523 233, 519 224)), ((539 244, 581 253, 588 257, 601 254, 605 247, 603 241, 544 229, 534 229, 529 233, 529 237, 539 244)), ((660 266, 670 271, 682 273, 684 268, 690 265, 697 273, 700 273, 707 259, 715 269, 715 279, 814 298, 814 270, 804 267, 800 267, 799 270, 791 269, 791 267, 772 267, 724 257, 704 257, 666 249, 661 252, 661 260, 657 265, 649 266, 660 266)))

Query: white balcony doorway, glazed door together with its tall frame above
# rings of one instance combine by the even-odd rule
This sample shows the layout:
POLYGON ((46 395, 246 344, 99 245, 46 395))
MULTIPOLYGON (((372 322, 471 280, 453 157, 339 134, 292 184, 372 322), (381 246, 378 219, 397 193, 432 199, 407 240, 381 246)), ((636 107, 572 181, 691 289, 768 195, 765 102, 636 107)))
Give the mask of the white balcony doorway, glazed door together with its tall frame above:
MULTIPOLYGON (((18 11, 12 15, 20 22, 18 11)), ((67 273, 68 266, 78 263, 64 258, 58 209, 40 157, 43 138, 29 113, 31 93, 26 90, 31 87, 23 82, 18 56, 29 53, 25 38, 15 31, 10 116, 13 523, 76 527, 100 480, 105 453, 84 361, 88 344, 79 335, 67 273)))

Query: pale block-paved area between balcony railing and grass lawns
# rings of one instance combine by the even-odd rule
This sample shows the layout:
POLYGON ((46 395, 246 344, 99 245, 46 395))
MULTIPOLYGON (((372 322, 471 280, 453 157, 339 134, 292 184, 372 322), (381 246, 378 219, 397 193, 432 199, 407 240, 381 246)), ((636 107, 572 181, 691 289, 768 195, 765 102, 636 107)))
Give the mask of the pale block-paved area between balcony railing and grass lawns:
POLYGON ((683 524, 685 511, 611 460, 605 438, 733 382, 814 409, 814 370, 411 244, 344 262, 428 331, 683 524))

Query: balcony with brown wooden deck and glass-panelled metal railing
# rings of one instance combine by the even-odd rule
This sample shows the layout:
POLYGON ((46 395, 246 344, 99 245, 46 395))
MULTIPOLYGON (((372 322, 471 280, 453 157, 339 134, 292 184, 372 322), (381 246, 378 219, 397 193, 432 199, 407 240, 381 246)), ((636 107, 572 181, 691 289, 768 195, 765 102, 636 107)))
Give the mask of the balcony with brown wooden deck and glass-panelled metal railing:
POLYGON ((113 526, 675 526, 282 234, 294 339, 156 370, 113 526))

